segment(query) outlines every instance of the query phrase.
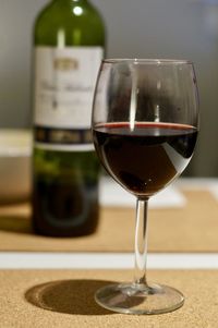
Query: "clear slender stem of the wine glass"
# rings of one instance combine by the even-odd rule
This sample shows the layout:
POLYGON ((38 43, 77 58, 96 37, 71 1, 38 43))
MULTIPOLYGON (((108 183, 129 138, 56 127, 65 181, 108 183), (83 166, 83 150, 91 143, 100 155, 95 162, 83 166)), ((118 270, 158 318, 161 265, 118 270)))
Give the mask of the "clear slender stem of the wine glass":
POLYGON ((147 205, 148 199, 137 199, 135 223, 135 276, 134 283, 147 286, 147 205))

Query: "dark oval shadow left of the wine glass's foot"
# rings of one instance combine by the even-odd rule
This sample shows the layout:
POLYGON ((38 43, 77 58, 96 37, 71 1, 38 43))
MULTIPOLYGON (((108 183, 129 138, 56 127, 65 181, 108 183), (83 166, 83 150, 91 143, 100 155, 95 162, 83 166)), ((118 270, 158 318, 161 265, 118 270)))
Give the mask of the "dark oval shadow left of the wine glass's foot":
POLYGON ((35 286, 26 291, 28 303, 52 312, 74 315, 108 315, 94 299, 95 292, 111 281, 58 280, 35 286))

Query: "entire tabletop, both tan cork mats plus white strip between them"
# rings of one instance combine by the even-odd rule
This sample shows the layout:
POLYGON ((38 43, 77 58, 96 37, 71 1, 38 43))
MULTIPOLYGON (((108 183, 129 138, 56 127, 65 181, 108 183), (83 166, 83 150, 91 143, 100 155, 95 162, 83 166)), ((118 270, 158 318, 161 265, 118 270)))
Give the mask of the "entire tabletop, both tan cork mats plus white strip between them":
POLYGON ((0 208, 0 327, 217 327, 218 181, 183 180, 182 206, 149 210, 148 281, 181 290, 184 305, 164 315, 100 308, 96 289, 133 275, 134 208, 101 206, 96 234, 33 234, 29 204, 0 208))

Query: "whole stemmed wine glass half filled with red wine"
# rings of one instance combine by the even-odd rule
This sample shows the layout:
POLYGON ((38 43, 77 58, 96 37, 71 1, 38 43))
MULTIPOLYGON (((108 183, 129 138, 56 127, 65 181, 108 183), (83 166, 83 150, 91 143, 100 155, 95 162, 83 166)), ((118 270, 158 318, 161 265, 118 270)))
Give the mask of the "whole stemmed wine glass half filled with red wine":
POLYGON ((126 314, 174 311, 183 305, 183 294, 146 280, 147 204, 150 196, 182 173, 193 155, 198 97, 192 62, 102 61, 92 130, 102 166, 136 197, 134 280, 101 288, 96 292, 96 302, 126 314))

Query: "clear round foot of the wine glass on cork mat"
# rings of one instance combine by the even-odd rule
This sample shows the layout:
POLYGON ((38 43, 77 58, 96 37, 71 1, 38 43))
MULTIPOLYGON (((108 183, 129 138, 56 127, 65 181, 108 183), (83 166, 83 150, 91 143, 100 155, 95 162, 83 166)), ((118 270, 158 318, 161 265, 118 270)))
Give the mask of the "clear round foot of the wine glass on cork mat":
POLYGON ((161 314, 184 303, 183 294, 168 286, 135 283, 110 284, 99 289, 96 302, 110 311, 124 314, 161 314))

